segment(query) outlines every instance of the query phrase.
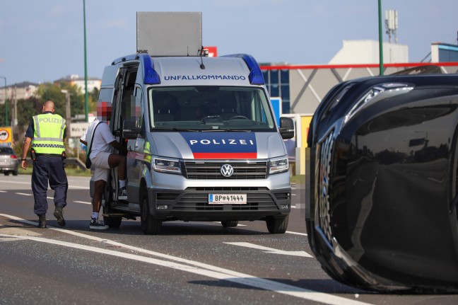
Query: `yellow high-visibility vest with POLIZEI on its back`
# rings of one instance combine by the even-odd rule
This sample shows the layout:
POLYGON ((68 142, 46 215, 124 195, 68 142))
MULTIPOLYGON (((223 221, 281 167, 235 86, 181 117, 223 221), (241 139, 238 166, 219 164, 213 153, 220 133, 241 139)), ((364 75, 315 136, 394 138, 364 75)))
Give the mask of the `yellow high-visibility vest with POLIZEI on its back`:
POLYGON ((49 113, 33 117, 32 148, 37 154, 62 154, 64 146, 65 119, 49 113))

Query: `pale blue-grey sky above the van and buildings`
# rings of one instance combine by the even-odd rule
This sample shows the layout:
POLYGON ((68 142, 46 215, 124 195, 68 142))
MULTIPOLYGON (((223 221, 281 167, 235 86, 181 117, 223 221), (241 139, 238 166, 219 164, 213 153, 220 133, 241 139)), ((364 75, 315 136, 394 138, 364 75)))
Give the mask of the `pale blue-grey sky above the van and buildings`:
MULTIPOLYGON (((432 42, 457 44, 457 0, 380 1, 383 19, 398 12, 409 62, 421 62, 432 42)), ((88 77, 136 52, 137 11, 201 12, 204 46, 258 62, 327 64, 343 40, 379 40, 378 0, 86 0, 88 77)), ((0 86, 84 77, 83 20, 83 0, 1 1, 0 86)))

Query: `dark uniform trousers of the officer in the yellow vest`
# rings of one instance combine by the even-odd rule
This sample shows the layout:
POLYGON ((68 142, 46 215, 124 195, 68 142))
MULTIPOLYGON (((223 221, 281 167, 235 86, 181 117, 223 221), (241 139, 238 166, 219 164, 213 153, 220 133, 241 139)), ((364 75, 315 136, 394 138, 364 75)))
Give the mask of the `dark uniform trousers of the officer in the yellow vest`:
POLYGON ((40 156, 37 154, 33 162, 32 191, 35 199, 33 212, 37 215, 45 214, 47 205, 47 188, 54 190, 54 205, 65 207, 66 192, 69 183, 66 178, 64 164, 60 155, 40 156))

